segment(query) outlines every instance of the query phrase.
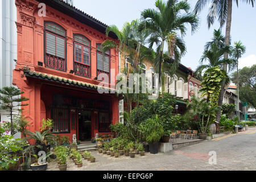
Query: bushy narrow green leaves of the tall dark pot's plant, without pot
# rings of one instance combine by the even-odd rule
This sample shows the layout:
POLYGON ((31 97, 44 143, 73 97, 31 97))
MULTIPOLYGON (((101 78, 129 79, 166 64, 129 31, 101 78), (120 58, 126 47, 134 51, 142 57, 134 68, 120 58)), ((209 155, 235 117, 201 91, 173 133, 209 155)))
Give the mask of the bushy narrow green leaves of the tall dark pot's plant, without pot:
POLYGON ((148 143, 158 142, 164 134, 162 118, 157 114, 152 118, 148 118, 146 122, 142 123, 142 126, 148 143))

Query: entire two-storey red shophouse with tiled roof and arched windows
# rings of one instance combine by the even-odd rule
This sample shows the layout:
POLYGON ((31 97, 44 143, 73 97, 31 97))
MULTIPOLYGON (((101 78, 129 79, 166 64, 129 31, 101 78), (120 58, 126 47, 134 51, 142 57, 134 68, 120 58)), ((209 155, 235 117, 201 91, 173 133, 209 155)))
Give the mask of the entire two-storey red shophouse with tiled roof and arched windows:
MULTIPOLYGON (((73 134, 77 140, 110 134, 110 123, 119 119, 119 98, 97 91, 100 73, 110 78, 114 69, 118 74, 118 51, 106 52, 104 59, 100 52, 108 26, 61 0, 16 0, 15 5, 18 60, 13 84, 30 99, 23 107, 31 121, 28 129, 40 131, 42 119, 51 118, 52 132, 70 141, 73 134), (46 16, 39 16, 39 3, 45 3, 46 16)), ((114 34, 109 39, 118 43, 114 34)))

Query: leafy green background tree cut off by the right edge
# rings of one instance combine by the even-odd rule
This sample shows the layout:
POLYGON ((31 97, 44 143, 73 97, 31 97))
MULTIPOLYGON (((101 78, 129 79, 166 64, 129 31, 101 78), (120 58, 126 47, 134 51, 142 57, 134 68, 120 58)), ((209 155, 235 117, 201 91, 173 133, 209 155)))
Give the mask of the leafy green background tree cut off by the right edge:
MULTIPOLYGON (((239 95, 243 102, 247 102, 254 108, 256 107, 256 64, 251 67, 244 67, 238 70, 239 95)), ((232 81, 237 81, 237 72, 232 75, 232 81)))

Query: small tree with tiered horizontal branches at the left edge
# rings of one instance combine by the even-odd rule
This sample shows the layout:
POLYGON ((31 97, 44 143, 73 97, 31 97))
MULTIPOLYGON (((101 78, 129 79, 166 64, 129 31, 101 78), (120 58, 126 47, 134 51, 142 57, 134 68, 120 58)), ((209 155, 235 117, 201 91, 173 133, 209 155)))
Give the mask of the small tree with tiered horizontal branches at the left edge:
POLYGON ((0 89, 0 107, 3 110, 8 110, 11 117, 11 135, 14 135, 13 130, 13 119, 16 116, 14 114, 15 110, 21 111, 20 106, 27 106, 28 104, 21 104, 21 102, 28 101, 29 99, 20 95, 24 92, 21 92, 19 89, 14 86, 4 87, 0 89))

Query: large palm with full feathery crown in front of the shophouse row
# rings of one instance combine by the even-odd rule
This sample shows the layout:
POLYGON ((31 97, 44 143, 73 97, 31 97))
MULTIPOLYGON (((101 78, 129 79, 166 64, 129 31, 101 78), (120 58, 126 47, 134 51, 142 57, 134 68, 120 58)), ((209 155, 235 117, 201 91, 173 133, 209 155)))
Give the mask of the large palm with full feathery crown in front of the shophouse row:
MULTIPOLYGON (((156 0, 155 6, 157 10, 146 9, 141 13, 143 28, 150 31, 150 48, 156 44, 155 67, 158 67, 159 80, 158 88, 160 88, 161 67, 164 51, 164 44, 168 44, 168 56, 174 60, 174 65, 179 65, 180 57, 185 53, 185 44, 183 39, 177 35, 180 31, 181 36, 185 35, 187 28, 186 23, 191 24, 192 32, 196 31, 198 26, 198 18, 196 15, 189 13, 190 6, 186 1, 156 0), (182 14, 182 12, 185 14, 182 14)), ((157 72, 157 71, 156 71, 157 72)))

